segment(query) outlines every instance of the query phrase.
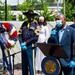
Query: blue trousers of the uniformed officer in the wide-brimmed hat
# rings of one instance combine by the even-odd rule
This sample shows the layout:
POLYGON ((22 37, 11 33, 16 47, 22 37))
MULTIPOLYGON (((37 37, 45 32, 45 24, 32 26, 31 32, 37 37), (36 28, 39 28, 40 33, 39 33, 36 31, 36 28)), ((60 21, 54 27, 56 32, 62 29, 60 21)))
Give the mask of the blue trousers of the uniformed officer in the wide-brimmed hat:
POLYGON ((22 75, 28 75, 28 71, 34 75, 33 63, 32 49, 28 46, 27 50, 22 51, 22 75))

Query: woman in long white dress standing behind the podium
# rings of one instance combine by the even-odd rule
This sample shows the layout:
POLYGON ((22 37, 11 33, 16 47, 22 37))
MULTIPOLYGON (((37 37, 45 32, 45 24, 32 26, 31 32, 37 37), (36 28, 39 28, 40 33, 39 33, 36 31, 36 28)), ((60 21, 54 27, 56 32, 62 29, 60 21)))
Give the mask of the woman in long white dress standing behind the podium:
MULTIPOLYGON (((40 25, 40 32, 39 32, 38 42, 39 43, 47 43, 47 40, 50 36, 50 31, 49 31, 49 28, 47 27, 47 23, 46 23, 43 16, 39 17, 38 23, 40 25)), ((37 47, 36 59, 35 59, 35 63, 36 63, 35 69, 36 69, 37 74, 42 73, 41 62, 42 62, 44 57, 45 57, 45 55, 37 47)))

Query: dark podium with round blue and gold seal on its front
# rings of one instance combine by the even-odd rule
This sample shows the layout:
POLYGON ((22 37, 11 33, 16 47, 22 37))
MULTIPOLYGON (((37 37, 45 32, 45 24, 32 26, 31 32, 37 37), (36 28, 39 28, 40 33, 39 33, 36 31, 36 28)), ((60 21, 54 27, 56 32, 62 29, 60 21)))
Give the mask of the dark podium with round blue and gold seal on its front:
POLYGON ((68 58, 60 44, 36 43, 42 53, 46 56, 41 63, 45 75, 58 75, 61 70, 59 58, 68 58))

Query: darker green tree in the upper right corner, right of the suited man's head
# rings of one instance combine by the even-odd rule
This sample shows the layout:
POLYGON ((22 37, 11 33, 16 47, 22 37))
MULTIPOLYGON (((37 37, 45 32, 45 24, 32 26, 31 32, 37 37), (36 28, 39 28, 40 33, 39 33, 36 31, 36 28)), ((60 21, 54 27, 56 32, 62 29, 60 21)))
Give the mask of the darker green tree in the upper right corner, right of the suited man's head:
MULTIPOLYGON (((65 0, 65 15, 66 15, 66 19, 67 21, 73 21, 72 18, 72 14, 73 12, 75 12, 75 5, 73 5, 72 3, 74 3, 74 0, 65 0)), ((63 11, 64 9, 62 9, 63 11)))

